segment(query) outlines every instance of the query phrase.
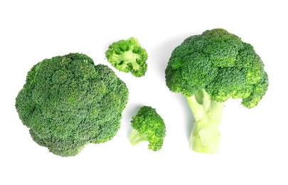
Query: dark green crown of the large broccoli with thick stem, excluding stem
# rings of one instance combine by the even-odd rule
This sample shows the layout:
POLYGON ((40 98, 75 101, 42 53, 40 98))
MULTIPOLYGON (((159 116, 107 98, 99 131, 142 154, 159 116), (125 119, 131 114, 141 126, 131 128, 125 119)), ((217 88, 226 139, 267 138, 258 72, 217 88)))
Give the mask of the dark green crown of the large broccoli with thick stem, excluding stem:
POLYGON ((189 97, 206 90, 216 102, 241 98, 255 107, 268 88, 268 76, 260 56, 249 43, 223 28, 186 38, 171 54, 166 85, 189 97))

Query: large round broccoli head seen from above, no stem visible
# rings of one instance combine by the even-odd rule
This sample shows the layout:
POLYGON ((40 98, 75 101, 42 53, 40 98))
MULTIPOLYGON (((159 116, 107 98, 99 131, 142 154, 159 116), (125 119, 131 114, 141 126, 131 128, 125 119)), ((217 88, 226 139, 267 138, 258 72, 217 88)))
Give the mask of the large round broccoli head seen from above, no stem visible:
POLYGON ((16 110, 37 144, 70 157, 117 134, 127 99, 127 86, 113 70, 70 53, 31 68, 16 110))

